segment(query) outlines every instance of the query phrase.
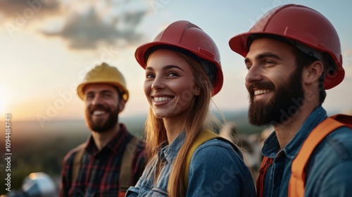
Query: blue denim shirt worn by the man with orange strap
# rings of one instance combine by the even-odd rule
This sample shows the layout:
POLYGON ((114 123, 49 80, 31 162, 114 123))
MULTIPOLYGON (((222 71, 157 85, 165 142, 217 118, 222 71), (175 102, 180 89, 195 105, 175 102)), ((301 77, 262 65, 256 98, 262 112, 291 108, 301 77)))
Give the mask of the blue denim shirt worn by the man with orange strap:
MULTIPOLYGON (((308 134, 327 118, 319 106, 310 113, 296 135, 282 150, 273 132, 265 140, 263 155, 274 158, 264 179, 263 196, 287 196, 292 161, 308 134)), ((340 127, 315 148, 306 170, 305 196, 351 196, 352 129, 340 127)))

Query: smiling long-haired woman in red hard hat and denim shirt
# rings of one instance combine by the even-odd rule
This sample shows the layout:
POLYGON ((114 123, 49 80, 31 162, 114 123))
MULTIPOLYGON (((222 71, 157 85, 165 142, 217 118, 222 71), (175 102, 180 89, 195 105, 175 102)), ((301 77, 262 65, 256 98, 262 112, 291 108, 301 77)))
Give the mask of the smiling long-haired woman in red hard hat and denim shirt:
POLYGON ((220 52, 213 39, 193 23, 178 20, 134 54, 145 70, 149 160, 126 196, 255 196, 239 148, 218 139, 213 132, 216 121, 210 121, 215 117, 209 106, 223 82, 220 52), (208 139, 207 134, 217 139, 208 139), (198 143, 201 139, 208 141, 198 143), (219 163, 221 167, 215 167, 219 163), (220 182, 228 176, 225 169, 236 174, 226 183, 220 182))

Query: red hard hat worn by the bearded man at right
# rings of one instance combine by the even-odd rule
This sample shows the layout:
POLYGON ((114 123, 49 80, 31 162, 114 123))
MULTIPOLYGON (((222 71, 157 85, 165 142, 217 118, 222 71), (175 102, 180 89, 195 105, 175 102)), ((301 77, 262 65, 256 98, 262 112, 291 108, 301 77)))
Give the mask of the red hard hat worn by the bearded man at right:
POLYGON ((249 51, 247 41, 252 34, 272 34, 328 53, 337 66, 335 72, 326 73, 324 88, 331 89, 344 80, 339 35, 332 23, 318 11, 294 4, 277 6, 265 13, 249 32, 232 37, 229 42, 232 51, 246 57, 249 51))

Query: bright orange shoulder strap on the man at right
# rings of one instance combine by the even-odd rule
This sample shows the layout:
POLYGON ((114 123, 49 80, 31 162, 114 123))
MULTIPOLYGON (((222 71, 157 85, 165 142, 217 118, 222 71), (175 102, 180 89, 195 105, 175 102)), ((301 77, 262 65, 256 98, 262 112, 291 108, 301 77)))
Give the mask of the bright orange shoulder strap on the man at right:
POLYGON ((351 115, 338 114, 328 117, 310 132, 300 151, 296 155, 296 158, 292 162, 292 174, 289 180, 289 196, 304 196, 306 181, 306 173, 304 170, 311 153, 313 153, 315 147, 318 146, 325 136, 333 132, 335 129, 344 126, 352 128, 351 115))

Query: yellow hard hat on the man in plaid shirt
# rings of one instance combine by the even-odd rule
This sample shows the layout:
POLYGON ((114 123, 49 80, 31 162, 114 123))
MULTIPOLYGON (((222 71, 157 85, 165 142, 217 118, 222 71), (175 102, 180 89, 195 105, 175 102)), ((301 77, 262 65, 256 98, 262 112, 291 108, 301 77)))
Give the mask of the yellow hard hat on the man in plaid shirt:
POLYGON ((125 78, 118 71, 117 68, 108 65, 107 63, 101 63, 96 65, 95 68, 90 70, 84 77, 83 82, 77 87, 77 94, 83 100, 84 98, 84 87, 87 84, 95 83, 107 83, 117 87, 122 92, 123 100, 128 100, 128 90, 126 89, 125 78))

